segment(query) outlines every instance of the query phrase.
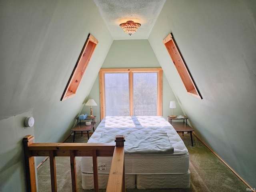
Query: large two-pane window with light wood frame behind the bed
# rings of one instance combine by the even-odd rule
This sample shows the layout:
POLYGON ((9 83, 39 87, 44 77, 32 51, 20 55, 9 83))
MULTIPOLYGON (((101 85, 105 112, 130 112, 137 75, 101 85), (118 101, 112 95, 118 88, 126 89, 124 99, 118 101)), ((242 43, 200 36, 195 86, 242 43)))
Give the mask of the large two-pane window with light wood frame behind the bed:
POLYGON ((162 68, 100 70, 100 116, 162 116, 162 68))

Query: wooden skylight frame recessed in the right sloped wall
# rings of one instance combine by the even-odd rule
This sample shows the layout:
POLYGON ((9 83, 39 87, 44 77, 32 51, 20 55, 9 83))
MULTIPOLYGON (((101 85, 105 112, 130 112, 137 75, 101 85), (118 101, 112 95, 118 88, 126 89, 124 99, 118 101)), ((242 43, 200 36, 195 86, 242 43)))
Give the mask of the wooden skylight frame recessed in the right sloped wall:
POLYGON ((180 50, 173 38, 172 33, 170 33, 163 40, 163 43, 166 46, 166 49, 172 58, 172 62, 174 63, 174 66, 176 67, 188 94, 202 99, 202 96, 200 95, 200 92, 198 91, 196 84, 194 83, 194 80, 193 80, 193 78, 188 70, 188 67, 180 53, 180 50))

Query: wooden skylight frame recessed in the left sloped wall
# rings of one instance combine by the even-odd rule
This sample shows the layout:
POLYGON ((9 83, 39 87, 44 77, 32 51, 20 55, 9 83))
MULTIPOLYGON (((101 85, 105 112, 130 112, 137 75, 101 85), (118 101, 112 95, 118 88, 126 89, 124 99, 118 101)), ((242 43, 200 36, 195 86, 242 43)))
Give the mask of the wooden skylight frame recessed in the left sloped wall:
POLYGON ((70 76, 70 79, 68 80, 68 84, 62 95, 61 101, 76 95, 78 86, 82 80, 84 72, 88 66, 90 58, 92 57, 92 54, 97 44, 98 44, 98 41, 96 40, 96 38, 94 38, 94 36, 89 34, 84 44, 84 47, 82 49, 82 52, 78 58, 78 61, 76 62, 74 70, 70 76))

